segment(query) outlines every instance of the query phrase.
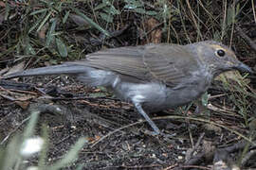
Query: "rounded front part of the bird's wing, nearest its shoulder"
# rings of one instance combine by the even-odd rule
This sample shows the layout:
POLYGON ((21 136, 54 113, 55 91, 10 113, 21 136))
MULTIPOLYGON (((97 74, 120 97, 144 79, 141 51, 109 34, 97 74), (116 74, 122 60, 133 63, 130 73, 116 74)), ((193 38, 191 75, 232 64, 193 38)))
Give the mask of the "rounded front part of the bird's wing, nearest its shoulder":
POLYGON ((198 61, 185 45, 148 45, 143 61, 155 79, 171 87, 189 78, 198 69, 198 61))

